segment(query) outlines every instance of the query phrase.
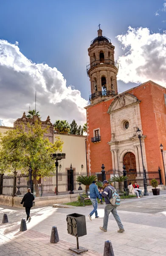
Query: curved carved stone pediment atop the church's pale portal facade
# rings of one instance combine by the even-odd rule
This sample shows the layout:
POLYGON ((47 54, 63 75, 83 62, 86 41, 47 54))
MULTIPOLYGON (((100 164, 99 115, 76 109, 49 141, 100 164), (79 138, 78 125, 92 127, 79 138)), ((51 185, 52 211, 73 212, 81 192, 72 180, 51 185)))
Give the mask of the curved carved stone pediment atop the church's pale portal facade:
POLYGON ((107 113, 111 113, 115 110, 124 108, 126 106, 129 106, 135 103, 140 103, 140 101, 134 95, 130 93, 119 94, 118 96, 115 97, 113 102, 111 102, 111 105, 108 108, 107 113))

